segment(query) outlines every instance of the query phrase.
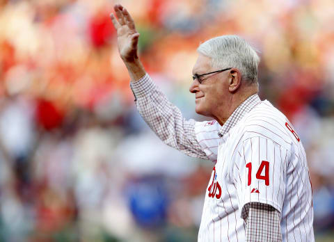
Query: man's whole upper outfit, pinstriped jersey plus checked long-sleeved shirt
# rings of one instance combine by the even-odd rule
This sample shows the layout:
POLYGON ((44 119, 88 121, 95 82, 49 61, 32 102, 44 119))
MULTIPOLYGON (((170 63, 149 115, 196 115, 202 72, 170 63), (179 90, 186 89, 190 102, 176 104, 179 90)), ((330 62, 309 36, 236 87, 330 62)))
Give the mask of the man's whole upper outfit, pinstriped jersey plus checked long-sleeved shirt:
POLYGON ((305 151, 280 111, 253 95, 221 127, 184 120, 148 74, 131 87, 139 113, 164 143, 216 162, 198 241, 314 241, 305 151), (264 169, 257 179, 262 161, 269 164, 268 186, 264 169))

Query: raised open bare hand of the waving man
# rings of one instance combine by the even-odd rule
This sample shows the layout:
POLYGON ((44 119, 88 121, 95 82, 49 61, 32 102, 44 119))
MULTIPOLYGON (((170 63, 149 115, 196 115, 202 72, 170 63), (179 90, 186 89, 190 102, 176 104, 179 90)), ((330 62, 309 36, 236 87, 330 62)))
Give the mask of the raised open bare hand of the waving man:
POLYGON ((126 8, 120 4, 114 6, 117 18, 111 13, 111 21, 117 31, 117 43, 118 50, 120 51, 120 57, 127 63, 132 63, 138 60, 138 38, 139 33, 134 26, 134 19, 126 8))

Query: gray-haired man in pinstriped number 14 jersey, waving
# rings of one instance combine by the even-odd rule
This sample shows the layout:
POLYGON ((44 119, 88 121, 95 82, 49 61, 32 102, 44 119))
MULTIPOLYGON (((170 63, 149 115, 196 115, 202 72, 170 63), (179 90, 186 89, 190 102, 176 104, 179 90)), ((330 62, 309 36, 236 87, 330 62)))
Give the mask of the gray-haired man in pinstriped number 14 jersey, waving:
POLYGON ((167 145, 216 161, 198 241, 314 241, 305 151, 285 115, 258 97, 260 58, 252 47, 235 35, 198 47, 189 90, 196 113, 214 120, 185 120, 145 73, 132 17, 120 5, 115 11, 118 49, 143 119, 167 145))

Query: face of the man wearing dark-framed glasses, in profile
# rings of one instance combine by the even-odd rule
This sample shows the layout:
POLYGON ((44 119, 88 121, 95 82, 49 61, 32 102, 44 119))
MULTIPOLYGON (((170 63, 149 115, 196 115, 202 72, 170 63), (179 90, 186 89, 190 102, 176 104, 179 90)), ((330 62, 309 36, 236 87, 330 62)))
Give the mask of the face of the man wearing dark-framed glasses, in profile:
MULTIPOLYGON (((211 66, 211 58, 199 54, 193 67, 193 74, 205 74, 214 72, 211 66)), ((202 77, 202 83, 194 80, 189 91, 195 94, 196 113, 216 118, 217 112, 227 106, 228 102, 228 74, 219 72, 202 77)))

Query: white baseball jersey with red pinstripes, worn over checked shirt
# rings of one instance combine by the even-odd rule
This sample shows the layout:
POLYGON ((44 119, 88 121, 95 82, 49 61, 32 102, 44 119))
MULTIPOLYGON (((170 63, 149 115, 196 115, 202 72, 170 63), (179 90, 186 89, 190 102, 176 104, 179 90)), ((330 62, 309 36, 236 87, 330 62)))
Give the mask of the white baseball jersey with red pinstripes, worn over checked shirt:
POLYGON ((209 157, 216 152, 217 129, 222 135, 198 241, 245 241, 241 210, 249 202, 280 212, 283 241, 314 241, 312 190, 301 140, 268 101, 253 95, 246 103, 230 117, 244 115, 237 123, 229 119, 221 128, 216 122, 196 123, 197 139, 209 157), (248 112, 241 111, 244 106, 248 112))

